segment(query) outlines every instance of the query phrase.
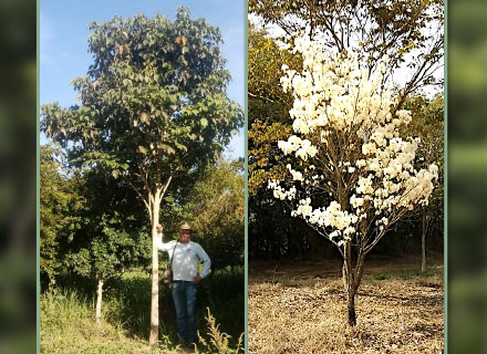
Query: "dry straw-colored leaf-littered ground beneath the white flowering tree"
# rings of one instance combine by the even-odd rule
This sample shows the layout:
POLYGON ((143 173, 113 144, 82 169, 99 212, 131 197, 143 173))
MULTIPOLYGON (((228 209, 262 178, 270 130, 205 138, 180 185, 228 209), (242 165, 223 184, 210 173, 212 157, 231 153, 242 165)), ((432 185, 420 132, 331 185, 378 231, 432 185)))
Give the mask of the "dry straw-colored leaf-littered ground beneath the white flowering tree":
POLYGON ((443 267, 418 275, 398 264, 387 272, 381 264, 369 268, 355 298, 354 329, 346 324, 336 268, 251 268, 249 353, 442 353, 443 267))

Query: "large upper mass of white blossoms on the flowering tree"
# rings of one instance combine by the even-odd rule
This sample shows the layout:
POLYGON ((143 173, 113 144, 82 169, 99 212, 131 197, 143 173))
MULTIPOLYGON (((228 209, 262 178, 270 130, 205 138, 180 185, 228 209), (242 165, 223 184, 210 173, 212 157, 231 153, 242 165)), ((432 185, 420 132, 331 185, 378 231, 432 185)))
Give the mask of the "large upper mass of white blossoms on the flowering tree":
POLYGON ((370 77, 365 61, 359 60, 352 51, 343 54, 323 51, 323 48, 324 43, 311 41, 309 37, 297 38, 294 52, 302 54, 302 73, 282 65, 286 73, 281 77, 282 87, 284 92, 292 90, 294 96, 289 113, 296 133, 305 135, 328 126, 339 131, 360 126, 360 134, 364 136, 380 124, 386 134, 411 119, 407 111, 397 112, 393 118, 394 100, 391 91, 381 90, 381 71, 370 77))

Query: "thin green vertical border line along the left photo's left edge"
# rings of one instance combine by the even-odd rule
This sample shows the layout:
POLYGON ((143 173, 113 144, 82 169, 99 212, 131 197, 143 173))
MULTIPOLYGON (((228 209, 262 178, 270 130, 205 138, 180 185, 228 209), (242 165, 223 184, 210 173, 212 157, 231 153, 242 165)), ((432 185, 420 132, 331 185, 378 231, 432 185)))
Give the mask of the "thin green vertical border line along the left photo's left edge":
POLYGON ((40 0, 35 1, 35 8, 37 8, 37 49, 35 49, 35 65, 37 65, 37 87, 35 87, 35 129, 37 129, 37 136, 35 136, 35 301, 37 301, 37 311, 35 311, 35 329, 37 329, 37 335, 35 335, 35 342, 37 342, 37 353, 40 353, 40 345, 41 345, 41 323, 40 323, 40 294, 41 294, 41 284, 40 284, 40 232, 41 232, 41 219, 40 219, 40 0))

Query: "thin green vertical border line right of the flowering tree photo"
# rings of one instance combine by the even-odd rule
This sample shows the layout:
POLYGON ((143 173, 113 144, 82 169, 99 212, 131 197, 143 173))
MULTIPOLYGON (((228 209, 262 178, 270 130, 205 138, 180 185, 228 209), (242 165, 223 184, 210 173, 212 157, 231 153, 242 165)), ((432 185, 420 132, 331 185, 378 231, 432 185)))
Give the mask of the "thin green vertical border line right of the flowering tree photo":
POLYGON ((448 0, 444 3, 443 39, 443 341, 448 353, 448 0))

